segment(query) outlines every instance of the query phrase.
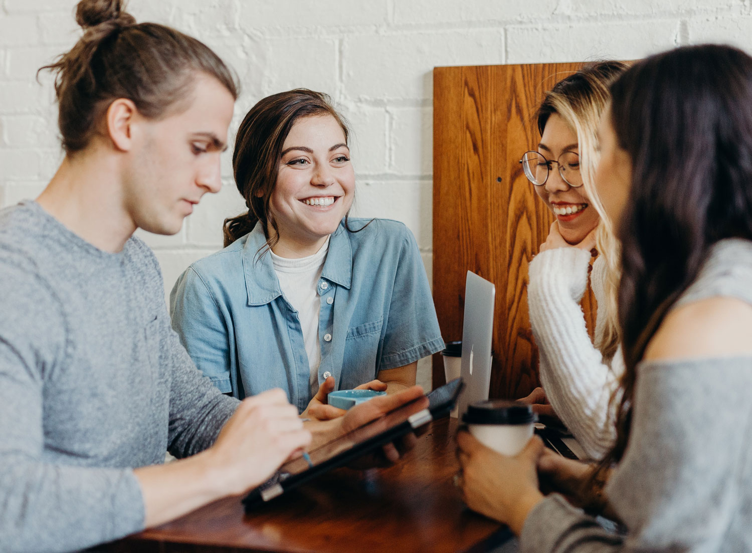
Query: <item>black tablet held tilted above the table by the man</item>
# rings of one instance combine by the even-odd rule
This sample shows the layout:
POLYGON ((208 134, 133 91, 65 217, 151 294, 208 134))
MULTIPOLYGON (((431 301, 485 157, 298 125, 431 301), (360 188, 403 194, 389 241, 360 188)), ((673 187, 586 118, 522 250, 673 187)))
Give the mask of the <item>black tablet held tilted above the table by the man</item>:
POLYGON ((362 427, 308 451, 305 457, 284 463, 274 478, 250 491, 244 498, 245 510, 250 511, 324 472, 393 442, 430 421, 448 416, 462 387, 462 378, 455 378, 428 394, 428 407, 420 407, 420 400, 423 398, 405 403, 362 427))

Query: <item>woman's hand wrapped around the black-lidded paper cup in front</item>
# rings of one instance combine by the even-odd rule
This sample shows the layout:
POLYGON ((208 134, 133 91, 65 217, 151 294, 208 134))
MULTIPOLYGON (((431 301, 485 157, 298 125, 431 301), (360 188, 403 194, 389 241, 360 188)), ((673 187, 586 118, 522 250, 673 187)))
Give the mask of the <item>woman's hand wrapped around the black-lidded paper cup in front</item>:
POLYGON ((457 433, 457 445, 462 499, 519 536, 528 513, 543 499, 536 470, 544 450, 541 439, 533 436, 514 457, 496 453, 464 430, 457 433))

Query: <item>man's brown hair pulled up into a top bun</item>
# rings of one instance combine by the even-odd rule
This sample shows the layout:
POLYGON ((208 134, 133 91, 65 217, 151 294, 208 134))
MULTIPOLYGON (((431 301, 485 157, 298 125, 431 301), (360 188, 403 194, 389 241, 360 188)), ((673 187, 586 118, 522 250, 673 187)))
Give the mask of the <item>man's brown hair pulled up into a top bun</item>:
POLYGON ((238 84, 208 46, 157 23, 136 23, 123 0, 82 0, 76 21, 83 36, 56 62, 58 126, 66 153, 83 150, 102 115, 118 98, 132 100, 144 117, 180 111, 196 73, 205 73, 238 97, 238 84))

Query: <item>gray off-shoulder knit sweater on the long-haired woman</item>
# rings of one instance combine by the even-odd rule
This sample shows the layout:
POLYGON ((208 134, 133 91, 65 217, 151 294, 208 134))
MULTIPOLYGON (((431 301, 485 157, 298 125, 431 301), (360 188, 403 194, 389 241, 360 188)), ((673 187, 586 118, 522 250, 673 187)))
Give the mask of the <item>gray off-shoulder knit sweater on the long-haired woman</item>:
MULTIPOLYGON (((714 246, 677 305, 752 304, 752 242, 714 246)), ((640 363, 629 447, 606 493, 626 536, 554 494, 523 527, 522 551, 752 551, 752 357, 640 363)))

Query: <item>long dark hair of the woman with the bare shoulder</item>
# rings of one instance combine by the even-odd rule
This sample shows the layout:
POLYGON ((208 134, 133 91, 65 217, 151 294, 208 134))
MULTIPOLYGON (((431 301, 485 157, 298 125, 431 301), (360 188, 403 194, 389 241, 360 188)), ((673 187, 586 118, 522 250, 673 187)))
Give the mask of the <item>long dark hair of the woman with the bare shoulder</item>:
POLYGON ((611 86, 611 124, 632 160, 619 320, 625 371, 617 441, 623 457, 636 367, 715 242, 752 240, 752 57, 732 47, 681 47, 638 62, 611 86))

